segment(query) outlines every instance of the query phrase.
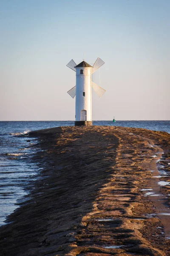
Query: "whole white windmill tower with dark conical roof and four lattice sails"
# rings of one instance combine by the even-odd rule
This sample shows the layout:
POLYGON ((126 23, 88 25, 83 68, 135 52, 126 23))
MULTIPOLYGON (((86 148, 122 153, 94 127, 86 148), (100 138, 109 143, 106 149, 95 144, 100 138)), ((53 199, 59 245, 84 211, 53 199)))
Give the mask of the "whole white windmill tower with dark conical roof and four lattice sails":
POLYGON ((105 90, 91 81, 91 75, 103 64, 105 62, 97 58, 93 67, 85 61, 77 65, 73 59, 66 65, 76 71, 76 86, 68 91, 72 98, 76 96, 75 125, 92 125, 91 87, 99 97, 102 97, 105 90))

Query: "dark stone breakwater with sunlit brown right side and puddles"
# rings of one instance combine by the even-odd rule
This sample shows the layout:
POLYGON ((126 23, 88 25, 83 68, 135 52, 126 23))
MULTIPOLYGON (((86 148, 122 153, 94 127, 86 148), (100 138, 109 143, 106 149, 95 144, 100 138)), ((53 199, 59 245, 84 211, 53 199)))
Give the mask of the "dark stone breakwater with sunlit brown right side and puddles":
POLYGON ((0 228, 0 255, 170 255, 170 134, 91 126, 29 137, 42 169, 0 228))

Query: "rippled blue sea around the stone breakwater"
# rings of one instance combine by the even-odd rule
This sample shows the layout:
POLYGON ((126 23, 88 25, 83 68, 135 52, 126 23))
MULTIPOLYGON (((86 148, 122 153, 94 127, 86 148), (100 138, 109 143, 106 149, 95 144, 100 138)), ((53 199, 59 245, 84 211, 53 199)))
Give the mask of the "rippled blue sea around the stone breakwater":
MULTIPOLYGON (((32 154, 40 149, 30 149, 28 139, 18 135, 73 125, 74 121, 0 122, 0 225, 6 224, 6 216, 18 207, 17 203, 28 193, 29 183, 37 179, 40 170, 39 166, 31 162, 32 154)), ((93 125, 146 128, 170 133, 170 121, 93 121, 93 125)), ((36 138, 31 139, 31 143, 36 144, 36 138)))

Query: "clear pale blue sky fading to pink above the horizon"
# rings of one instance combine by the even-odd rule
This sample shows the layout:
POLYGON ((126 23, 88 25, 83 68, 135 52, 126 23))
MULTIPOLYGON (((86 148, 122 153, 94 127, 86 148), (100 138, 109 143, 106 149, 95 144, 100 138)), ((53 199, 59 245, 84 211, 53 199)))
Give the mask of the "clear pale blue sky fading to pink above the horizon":
POLYGON ((97 57, 93 120, 170 120, 170 0, 0 0, 0 120, 74 120, 97 57))

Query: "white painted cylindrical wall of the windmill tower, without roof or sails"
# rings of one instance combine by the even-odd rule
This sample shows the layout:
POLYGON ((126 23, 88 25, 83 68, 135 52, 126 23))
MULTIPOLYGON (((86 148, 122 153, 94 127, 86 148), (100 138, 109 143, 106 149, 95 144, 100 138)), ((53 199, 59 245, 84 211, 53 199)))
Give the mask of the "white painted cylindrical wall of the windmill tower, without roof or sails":
POLYGON ((82 121, 82 110, 87 111, 87 121, 92 121, 91 69, 92 67, 76 67, 76 121, 82 121), (81 69, 83 70, 83 75, 80 74, 81 69), (83 92, 85 92, 85 97, 83 92))

